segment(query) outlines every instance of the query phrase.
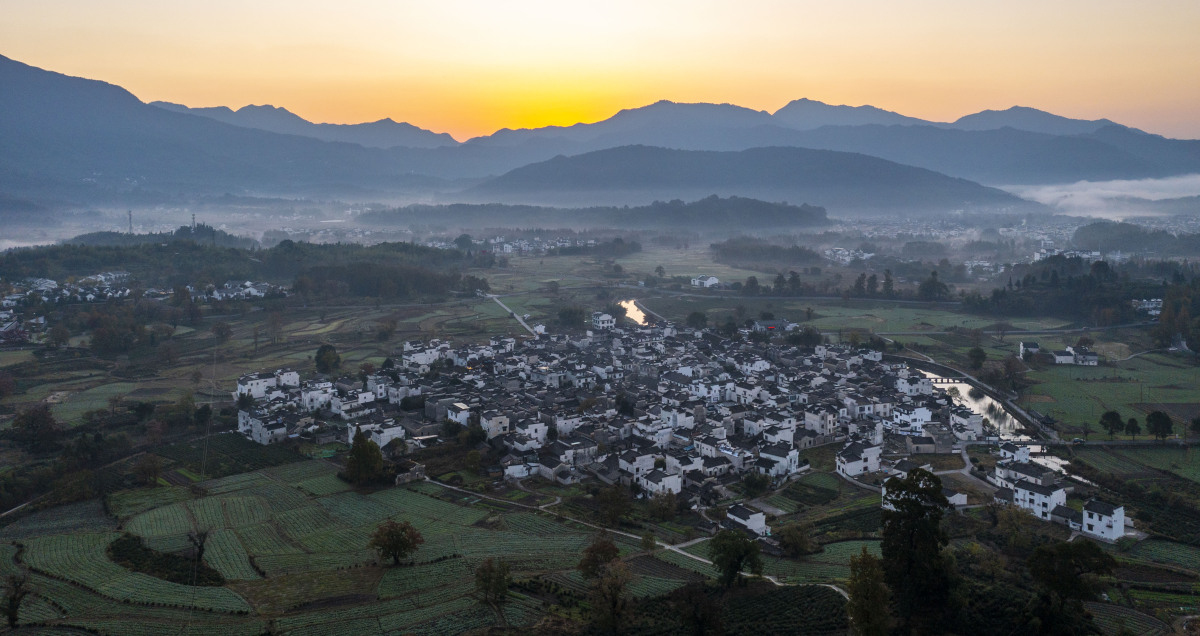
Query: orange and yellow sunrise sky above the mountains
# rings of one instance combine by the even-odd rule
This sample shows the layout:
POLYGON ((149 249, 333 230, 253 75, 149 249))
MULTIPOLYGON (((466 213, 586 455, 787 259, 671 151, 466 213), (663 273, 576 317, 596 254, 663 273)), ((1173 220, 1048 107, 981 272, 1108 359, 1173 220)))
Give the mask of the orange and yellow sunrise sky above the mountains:
POLYGON ((947 121, 1010 106, 1200 138, 1198 0, 2 0, 0 54, 143 101, 458 139, 671 100, 947 121))

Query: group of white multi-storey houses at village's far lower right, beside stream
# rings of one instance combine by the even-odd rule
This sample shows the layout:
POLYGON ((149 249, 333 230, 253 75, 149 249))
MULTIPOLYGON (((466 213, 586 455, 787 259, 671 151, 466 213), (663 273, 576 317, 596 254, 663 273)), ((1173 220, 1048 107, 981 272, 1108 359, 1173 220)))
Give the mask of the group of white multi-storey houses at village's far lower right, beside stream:
POLYGON ((1124 536, 1124 506, 1093 498, 1084 503, 1082 510, 1069 508, 1068 487, 1056 472, 1030 461, 1028 446, 1003 444, 1000 455, 996 468, 988 474, 988 481, 998 487, 997 503, 1015 505, 1039 520, 1061 523, 1103 541, 1124 536))

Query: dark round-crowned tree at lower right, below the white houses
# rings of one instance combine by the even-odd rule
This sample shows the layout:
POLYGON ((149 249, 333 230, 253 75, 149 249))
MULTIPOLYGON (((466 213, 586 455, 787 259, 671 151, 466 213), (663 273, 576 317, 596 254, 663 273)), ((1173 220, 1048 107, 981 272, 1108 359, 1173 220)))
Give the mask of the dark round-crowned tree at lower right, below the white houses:
POLYGON ((1112 574, 1117 562, 1111 554, 1087 540, 1038 546, 1030 557, 1033 580, 1057 600, 1087 601, 1102 589, 1096 577, 1112 574))

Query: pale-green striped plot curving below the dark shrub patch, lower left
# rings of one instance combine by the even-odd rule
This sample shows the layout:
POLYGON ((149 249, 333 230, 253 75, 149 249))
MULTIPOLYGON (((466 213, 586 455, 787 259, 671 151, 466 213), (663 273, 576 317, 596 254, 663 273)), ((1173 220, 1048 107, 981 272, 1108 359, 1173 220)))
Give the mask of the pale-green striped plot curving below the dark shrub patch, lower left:
POLYGON ((216 612, 248 612, 250 605, 227 588, 188 587, 131 572, 108 560, 106 548, 116 533, 28 539, 24 560, 30 568, 72 581, 119 601, 194 607, 216 612))

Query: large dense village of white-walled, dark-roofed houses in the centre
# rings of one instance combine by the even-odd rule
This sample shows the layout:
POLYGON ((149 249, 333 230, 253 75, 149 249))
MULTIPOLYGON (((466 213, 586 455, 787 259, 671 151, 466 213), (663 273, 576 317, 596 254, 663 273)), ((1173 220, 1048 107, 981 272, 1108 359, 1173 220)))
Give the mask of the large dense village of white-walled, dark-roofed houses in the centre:
MULTIPOLYGON (((856 462, 877 464, 886 432, 916 451, 932 448, 923 432, 935 418, 959 418, 964 439, 984 434, 982 418, 878 352, 734 342, 670 323, 406 342, 384 367, 365 380, 244 376, 239 430, 262 444, 350 443, 362 431, 398 451, 440 443, 449 420, 482 431, 500 457, 496 475, 596 479, 688 505, 730 497, 748 473, 785 481, 808 469, 800 451, 820 444, 858 449, 857 460, 839 455, 838 469, 851 474, 856 462)), ((762 520, 731 510, 726 523, 768 534, 762 520)))

